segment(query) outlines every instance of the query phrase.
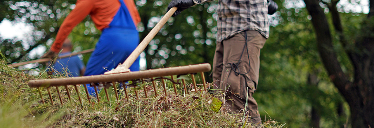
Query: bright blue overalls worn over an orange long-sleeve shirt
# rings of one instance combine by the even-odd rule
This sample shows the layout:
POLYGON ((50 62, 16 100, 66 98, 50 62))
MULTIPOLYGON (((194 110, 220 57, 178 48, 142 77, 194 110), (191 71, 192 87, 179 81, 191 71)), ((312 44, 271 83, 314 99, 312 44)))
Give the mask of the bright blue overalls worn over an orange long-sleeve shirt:
MULTIPOLYGON (((119 1, 121 6, 109 24, 109 28, 102 30, 95 51, 88 60, 84 76, 104 74, 106 71, 116 68, 139 45, 139 33, 129 10, 123 0, 119 1)), ((139 71, 139 59, 138 57, 131 65, 131 71, 139 71)), ((96 96, 93 87, 89 87, 89 84, 87 86, 89 94, 96 96)))

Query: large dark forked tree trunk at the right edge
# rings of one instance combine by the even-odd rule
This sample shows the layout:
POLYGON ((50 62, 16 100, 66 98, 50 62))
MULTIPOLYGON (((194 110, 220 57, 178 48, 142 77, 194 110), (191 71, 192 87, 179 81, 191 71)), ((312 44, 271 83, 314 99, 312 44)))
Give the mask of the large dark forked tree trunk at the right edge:
MULTIPOLYGON (((374 33, 371 16, 374 0, 370 0, 370 13, 363 23, 356 44, 346 51, 354 67, 355 79, 349 81, 343 73, 332 46, 331 32, 324 11, 318 0, 304 0, 306 8, 312 16, 312 24, 317 35, 317 47, 330 79, 343 95, 350 106, 352 128, 371 128, 374 126, 374 43, 371 35, 374 33)), ((333 5, 335 6, 335 5, 333 5)), ((330 9, 332 9, 330 7, 330 9)), ((336 9, 336 8, 335 8, 336 9)), ((334 12, 335 10, 331 10, 334 12)), ((337 14, 335 14, 337 15, 337 14)), ((334 15, 334 16, 335 16, 334 15)), ((335 17, 336 18, 336 17, 335 17)), ((340 19, 333 19, 334 25, 341 23, 340 19)), ((336 27, 336 26, 335 26, 336 27)), ((338 31, 338 30, 337 30, 338 31)), ((344 45, 344 42, 342 42, 344 45)))

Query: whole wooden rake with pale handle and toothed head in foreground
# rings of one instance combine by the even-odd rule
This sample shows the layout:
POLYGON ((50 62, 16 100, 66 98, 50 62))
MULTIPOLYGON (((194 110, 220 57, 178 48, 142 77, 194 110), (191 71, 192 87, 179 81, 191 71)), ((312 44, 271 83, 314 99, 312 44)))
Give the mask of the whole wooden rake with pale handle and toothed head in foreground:
MULTIPOLYGON (((180 85, 183 84, 184 93, 187 94, 188 92, 187 92, 185 80, 184 79, 178 79, 178 77, 180 77, 181 75, 187 75, 187 74, 191 75, 191 80, 192 80, 192 83, 193 83, 194 92, 197 93, 198 89, 196 87, 196 80, 195 80, 194 75, 197 74, 197 73, 200 73, 201 78, 202 78, 203 88, 204 88, 203 91, 206 92, 206 83, 205 83, 204 72, 211 70, 211 65, 208 64, 208 63, 187 65, 187 66, 179 66, 179 67, 159 68, 159 69, 145 70, 145 71, 134 71, 134 72, 129 70, 129 67, 132 65, 132 63, 134 63, 136 58, 141 54, 141 52, 145 49, 145 47, 147 47, 147 45, 154 38, 154 36, 157 34, 157 32, 160 31, 162 26, 171 17, 171 15, 175 12, 175 10, 177 10, 177 7, 171 8, 165 14, 165 16, 162 17, 160 22, 157 23, 156 26, 154 26, 154 28, 150 31, 150 33, 148 33, 148 35, 143 39, 143 41, 140 42, 138 47, 131 53, 131 55, 125 60, 125 62, 123 64, 118 65, 117 68, 115 68, 114 70, 108 71, 108 72, 104 73, 103 75, 95 75, 95 76, 31 80, 31 81, 28 82, 28 86, 37 88, 43 104, 45 104, 45 102, 44 102, 44 99, 43 99, 41 88, 46 88, 47 91, 48 91, 48 95, 49 95, 49 98, 50 98, 50 101, 51 101, 52 105, 53 105, 53 99, 52 99, 52 95, 50 93, 50 87, 55 87, 56 92, 58 93, 59 100, 60 100, 61 105, 62 105, 63 103, 62 103, 62 99, 61 99, 61 94, 60 94, 59 89, 58 89, 59 86, 64 86, 65 87, 65 90, 67 92, 68 98, 69 98, 71 103, 72 103, 72 100, 71 100, 71 96, 70 96, 68 86, 74 86, 74 89, 77 92, 77 95, 78 95, 78 98, 79 98, 79 102, 82 104, 82 99, 81 99, 80 92, 79 92, 77 86, 79 86, 80 84, 83 84, 83 86, 85 87, 87 100, 88 100, 89 103, 91 103, 91 95, 89 95, 87 86, 85 86, 85 84, 90 84, 90 86, 93 86, 93 88, 95 90, 95 94, 96 94, 96 97, 97 97, 97 103, 100 103, 99 93, 97 91, 98 88, 102 87, 104 89, 105 95, 107 97, 106 99, 109 102, 109 96, 108 96, 107 89, 109 87, 113 87, 114 93, 115 93, 115 96, 116 96, 116 100, 119 100, 118 92, 117 92, 117 89, 118 89, 117 83, 122 84, 124 86, 128 85, 128 87, 129 87, 129 83, 127 81, 131 81, 130 84, 134 87, 137 86, 140 83, 143 84, 144 85, 143 89, 144 89, 146 98, 148 98, 147 87, 145 86, 146 82, 151 82, 152 83, 152 86, 153 86, 153 89, 154 89, 154 95, 157 97, 156 84, 154 82, 155 80, 161 80, 162 81, 162 87, 163 87, 163 92, 164 92, 165 97, 168 96, 168 94, 166 93, 165 80, 171 81, 171 83, 174 87, 174 93, 176 95, 178 95, 178 94, 177 94, 177 88, 176 88, 175 84, 180 84, 180 85), (177 76, 178 80, 174 79, 174 76, 177 76), (181 80, 181 82, 179 80, 181 80)), ((123 91, 125 92, 126 99, 129 100, 129 94, 128 94, 128 91, 127 91, 126 87, 123 87, 123 91)), ((138 92, 137 92, 136 89, 134 89, 134 92, 135 92, 136 97, 139 98, 138 92)))

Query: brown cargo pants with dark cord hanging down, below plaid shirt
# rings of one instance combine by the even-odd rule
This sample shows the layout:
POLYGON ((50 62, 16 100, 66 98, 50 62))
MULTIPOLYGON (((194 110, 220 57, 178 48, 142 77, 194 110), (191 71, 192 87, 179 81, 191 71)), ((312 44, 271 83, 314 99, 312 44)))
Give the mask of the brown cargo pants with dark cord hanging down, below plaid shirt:
POLYGON ((257 102, 252 95, 257 89, 260 49, 263 48, 265 41, 266 38, 258 31, 250 30, 217 42, 212 70, 213 81, 216 85, 214 89, 224 90, 225 98, 231 99, 226 100, 224 104, 227 111, 243 112, 248 99, 247 114, 251 116, 252 122, 260 124, 257 102), (245 35, 247 36, 246 47, 245 35))

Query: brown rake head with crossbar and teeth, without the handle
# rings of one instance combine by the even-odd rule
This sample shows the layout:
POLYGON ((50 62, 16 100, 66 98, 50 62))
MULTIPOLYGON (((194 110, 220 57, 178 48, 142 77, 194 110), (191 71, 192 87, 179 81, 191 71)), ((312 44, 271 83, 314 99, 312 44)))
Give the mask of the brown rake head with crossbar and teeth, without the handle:
MULTIPOLYGON (((99 98, 99 93, 97 91, 97 88, 103 88, 105 91, 105 95, 107 97, 108 102, 109 96, 107 89, 109 87, 113 87, 114 93, 116 96, 116 100, 119 100, 118 98, 118 92, 117 92, 117 84, 116 83, 122 83, 123 86, 132 86, 132 87, 137 87, 137 84, 144 84, 145 82, 151 82, 153 89, 154 89, 154 95, 157 97, 157 90, 156 90, 156 84, 155 80, 161 80, 162 81, 162 87, 163 91, 165 93, 165 96, 168 94, 166 93, 166 83, 165 80, 171 81, 173 87, 174 87, 174 93, 178 95, 177 93, 177 88, 175 84, 183 84, 184 87, 184 93, 187 94, 187 88, 186 88, 186 82, 184 79, 181 79, 182 81, 179 82, 178 80, 174 79, 174 76, 177 75, 179 77, 180 75, 186 75, 190 74, 191 75, 191 80, 192 84, 194 86, 194 91, 197 92, 197 87, 196 87, 196 80, 195 80, 195 74, 200 73, 202 77, 202 82, 203 82, 203 87, 204 91, 206 92, 206 85, 205 85, 205 77, 204 77, 204 72, 210 71, 211 70, 211 65, 208 63, 205 64, 195 64, 195 65, 187 65, 187 66, 179 66, 179 67, 169 67, 169 68, 159 68, 159 69, 153 69, 153 70, 145 70, 145 71, 134 71, 134 72, 127 72, 127 73, 117 73, 117 74, 105 74, 105 75, 96 75, 96 76, 82 76, 82 77, 68 77, 68 78, 59 78, 59 79, 43 79, 43 80, 30 80, 28 83, 29 87, 34 87, 38 89, 40 98, 42 99, 43 104, 45 104, 42 92, 40 91, 41 87, 46 88, 48 91, 48 95, 50 98, 50 103, 53 104, 53 99, 52 95, 50 93, 50 87, 55 87, 56 92, 58 93, 59 100, 61 102, 61 105, 63 104, 61 94, 59 92, 58 87, 59 86, 64 86, 65 90, 67 92, 68 98, 70 102, 72 103, 70 92, 68 89, 68 86, 74 86, 74 89, 78 95, 79 102, 82 104, 82 99, 79 93, 79 89, 77 86, 80 86, 81 84, 91 84, 91 86, 94 87, 95 93, 97 96, 97 103, 100 103, 100 98, 99 98), (167 77, 166 77, 167 76, 167 77), (170 76, 170 78, 168 78, 170 76), (131 83, 126 83, 126 81, 131 80, 131 83)), ((91 103, 91 96, 89 95, 88 89, 86 86, 85 87, 85 92, 87 95, 88 102, 91 103)), ((143 86, 144 92, 145 92, 145 97, 147 98, 147 87, 143 86)), ((126 87, 123 87, 123 91, 125 92, 126 99, 129 99, 128 91, 126 87)), ((135 89, 134 90, 135 95, 137 98, 138 92, 135 89)))

